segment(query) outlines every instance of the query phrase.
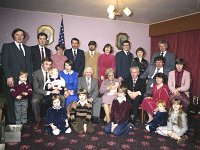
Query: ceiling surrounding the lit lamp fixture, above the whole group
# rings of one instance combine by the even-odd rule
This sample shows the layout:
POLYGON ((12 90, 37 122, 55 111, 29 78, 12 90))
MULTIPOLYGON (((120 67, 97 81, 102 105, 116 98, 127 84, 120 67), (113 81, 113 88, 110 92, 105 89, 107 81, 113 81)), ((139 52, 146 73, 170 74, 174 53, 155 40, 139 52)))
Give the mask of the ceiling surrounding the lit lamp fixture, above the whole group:
MULTIPOLYGON (((200 12, 200 0, 118 0, 133 14, 116 20, 153 24, 200 12)), ((52 12, 94 18, 108 18, 107 7, 116 0, 0 0, 0 7, 52 12)))

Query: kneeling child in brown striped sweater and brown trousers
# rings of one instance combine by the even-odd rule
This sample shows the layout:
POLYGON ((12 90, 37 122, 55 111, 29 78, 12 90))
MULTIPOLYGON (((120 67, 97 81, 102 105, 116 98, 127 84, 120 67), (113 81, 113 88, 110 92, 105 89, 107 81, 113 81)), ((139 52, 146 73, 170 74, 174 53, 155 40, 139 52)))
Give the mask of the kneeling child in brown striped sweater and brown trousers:
POLYGON ((74 131, 78 134, 94 133, 95 129, 91 122, 92 104, 88 100, 86 89, 78 90, 79 101, 73 102, 70 119, 74 131))

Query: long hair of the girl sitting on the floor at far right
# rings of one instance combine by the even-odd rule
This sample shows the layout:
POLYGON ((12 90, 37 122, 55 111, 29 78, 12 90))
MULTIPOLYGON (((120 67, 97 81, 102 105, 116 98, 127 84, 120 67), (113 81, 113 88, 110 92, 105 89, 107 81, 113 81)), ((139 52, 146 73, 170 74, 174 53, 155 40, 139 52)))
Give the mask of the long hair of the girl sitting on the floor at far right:
MULTIPOLYGON (((173 105, 181 105, 182 106, 182 101, 178 98, 175 98, 172 100, 172 106, 173 105)), ((174 109, 173 109, 173 107, 171 107, 169 110, 169 116, 171 116, 173 112, 174 112, 174 109)), ((182 107, 180 107, 179 112, 178 112, 178 127, 180 127, 180 128, 183 127, 182 113, 183 113, 183 109, 182 109, 182 107)))

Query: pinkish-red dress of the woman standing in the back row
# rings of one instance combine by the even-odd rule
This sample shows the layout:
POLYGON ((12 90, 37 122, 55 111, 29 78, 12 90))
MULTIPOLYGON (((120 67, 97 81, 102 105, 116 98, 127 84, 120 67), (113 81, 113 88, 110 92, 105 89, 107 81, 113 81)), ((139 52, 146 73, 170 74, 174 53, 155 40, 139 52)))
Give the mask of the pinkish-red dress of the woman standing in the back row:
POLYGON ((105 79, 106 77, 106 69, 113 68, 115 69, 115 56, 112 54, 101 54, 98 58, 98 76, 99 76, 99 85, 101 85, 100 77, 103 76, 105 79))

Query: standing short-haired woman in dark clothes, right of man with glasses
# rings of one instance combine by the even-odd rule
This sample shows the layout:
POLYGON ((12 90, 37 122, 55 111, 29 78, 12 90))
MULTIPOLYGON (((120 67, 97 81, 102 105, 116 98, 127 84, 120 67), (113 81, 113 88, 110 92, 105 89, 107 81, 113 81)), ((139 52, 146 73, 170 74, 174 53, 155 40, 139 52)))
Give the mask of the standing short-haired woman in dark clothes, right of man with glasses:
POLYGON ((142 74, 146 71, 149 64, 149 62, 146 59, 144 59, 146 55, 145 49, 139 47, 135 53, 137 57, 133 58, 133 60, 131 61, 131 66, 132 67, 137 66, 140 69, 140 74, 142 74))

